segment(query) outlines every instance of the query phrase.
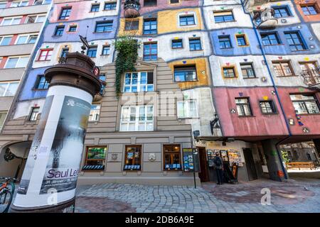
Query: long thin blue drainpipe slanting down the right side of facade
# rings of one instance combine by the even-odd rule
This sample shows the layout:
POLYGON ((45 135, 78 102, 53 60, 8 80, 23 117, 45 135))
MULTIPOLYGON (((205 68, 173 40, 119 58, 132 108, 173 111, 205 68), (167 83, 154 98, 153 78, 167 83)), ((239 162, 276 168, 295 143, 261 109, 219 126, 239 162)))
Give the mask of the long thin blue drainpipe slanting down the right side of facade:
MULTIPOLYGON (((258 35, 258 33, 257 33, 257 28, 255 28, 255 24, 253 23, 251 14, 250 14, 250 13, 247 13, 247 12, 245 11, 245 6, 244 6, 244 4, 243 4, 243 0, 241 0, 241 6, 242 6, 242 9, 243 9, 244 13, 250 16, 250 21, 251 21, 251 24, 252 24, 252 27, 253 27, 253 31, 255 31, 255 36, 256 36, 257 41, 258 41, 258 43, 259 43, 259 48, 260 48, 260 50, 261 50, 261 52, 262 52, 263 60, 265 60, 265 65, 267 66, 268 74, 270 75, 270 79, 271 79, 271 82, 272 82, 272 87, 274 88, 274 92, 275 92, 275 94, 276 94, 276 96, 277 96, 277 100, 279 101, 279 106, 280 106, 280 109, 281 109, 282 114, 283 114, 283 116, 284 116, 284 121, 285 121, 285 123, 286 123, 287 130, 288 130, 288 133, 289 133, 289 135, 287 136, 287 138, 284 138, 284 139, 280 140, 278 143, 276 143, 277 154, 278 154, 279 159, 282 161, 281 154, 279 153, 278 145, 279 145, 279 143, 284 142, 284 140, 289 139, 289 138, 292 136, 292 132, 291 132, 289 123, 288 123, 288 121, 287 121, 287 115, 285 114, 284 108, 283 108, 283 106, 282 106, 282 102, 281 102, 281 99, 280 99, 280 96, 279 96, 279 92, 278 92, 277 86, 276 86, 276 84, 274 83, 274 79, 273 79, 273 77, 272 77, 272 73, 271 73, 271 70, 270 70, 270 66, 269 66, 269 64, 268 64, 268 62, 267 62, 267 57, 265 57, 265 50, 263 50, 263 48, 262 48, 262 44, 261 44, 261 42, 260 42, 260 38, 259 38, 259 35, 258 35)), ((282 163, 281 166, 282 166, 282 172, 284 172, 284 178, 285 178, 285 179, 288 179, 287 172, 286 172, 286 170, 285 170, 285 167, 284 167, 283 163, 282 163)))

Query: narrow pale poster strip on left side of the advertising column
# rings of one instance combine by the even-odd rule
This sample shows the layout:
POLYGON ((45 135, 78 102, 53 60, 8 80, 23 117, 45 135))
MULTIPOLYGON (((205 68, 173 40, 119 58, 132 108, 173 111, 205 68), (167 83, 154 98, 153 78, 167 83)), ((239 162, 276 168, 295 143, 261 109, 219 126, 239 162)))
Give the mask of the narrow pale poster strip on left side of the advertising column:
POLYGON ((53 95, 48 96, 46 98, 46 102, 43 106, 43 110, 41 113, 41 118, 38 123, 38 130, 36 131, 36 134, 34 135, 33 138, 33 143, 30 148, 30 152, 28 155, 28 162, 26 162, 26 167, 23 170, 23 175, 21 177, 21 182, 20 185, 17 189, 18 194, 26 194, 28 191, 31 175, 33 172, 33 166, 36 162, 36 158, 39 152, 41 152, 41 149, 39 148, 42 137, 43 137, 43 132, 45 131, 46 128, 46 123, 48 121, 48 116, 50 113, 50 109, 53 103, 53 95))

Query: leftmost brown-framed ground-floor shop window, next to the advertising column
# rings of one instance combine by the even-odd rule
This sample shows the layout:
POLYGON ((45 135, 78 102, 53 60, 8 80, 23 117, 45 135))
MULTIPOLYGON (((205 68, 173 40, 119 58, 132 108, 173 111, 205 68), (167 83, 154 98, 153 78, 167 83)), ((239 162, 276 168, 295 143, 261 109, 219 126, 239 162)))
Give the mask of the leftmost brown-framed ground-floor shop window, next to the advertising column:
POLYGON ((106 147, 87 147, 85 165, 82 170, 105 170, 105 157, 107 157, 106 147))

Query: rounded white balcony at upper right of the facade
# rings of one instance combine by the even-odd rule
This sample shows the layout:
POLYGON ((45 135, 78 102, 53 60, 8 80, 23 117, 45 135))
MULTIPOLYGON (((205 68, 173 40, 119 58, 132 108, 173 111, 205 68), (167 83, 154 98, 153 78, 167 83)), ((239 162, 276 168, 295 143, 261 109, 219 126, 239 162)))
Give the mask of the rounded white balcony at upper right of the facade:
POLYGON ((274 17, 274 9, 270 8, 255 12, 252 20, 255 26, 261 29, 274 28, 278 24, 277 18, 274 17))

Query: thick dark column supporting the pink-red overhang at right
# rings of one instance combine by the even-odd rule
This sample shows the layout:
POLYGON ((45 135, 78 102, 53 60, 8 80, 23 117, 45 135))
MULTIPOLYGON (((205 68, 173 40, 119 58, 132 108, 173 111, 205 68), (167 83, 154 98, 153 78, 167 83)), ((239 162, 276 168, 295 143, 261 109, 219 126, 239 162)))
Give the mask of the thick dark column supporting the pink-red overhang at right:
POLYGON ((263 140, 262 148, 265 153, 265 158, 267 160, 267 167, 269 171, 270 179, 282 182, 285 179, 285 175, 287 175, 287 170, 283 167, 282 164, 282 155, 277 150, 277 142, 279 140, 263 140))

